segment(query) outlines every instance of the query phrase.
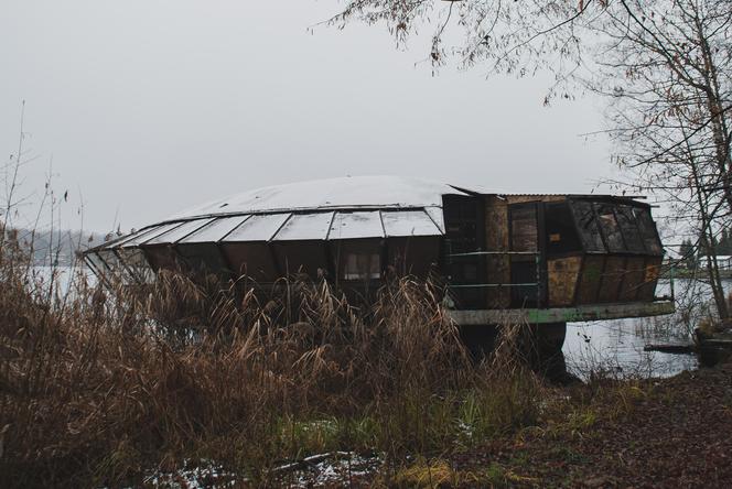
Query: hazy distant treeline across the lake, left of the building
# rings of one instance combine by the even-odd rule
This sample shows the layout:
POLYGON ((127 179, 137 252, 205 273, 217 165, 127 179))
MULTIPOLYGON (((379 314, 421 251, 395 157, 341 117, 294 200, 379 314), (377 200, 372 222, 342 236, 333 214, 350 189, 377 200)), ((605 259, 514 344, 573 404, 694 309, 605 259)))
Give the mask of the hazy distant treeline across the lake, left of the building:
MULTIPOLYGON (((1 231, 0 231, 1 232, 1 231)), ((13 229, 8 237, 31 250, 33 264, 67 267, 74 262, 77 251, 86 250, 105 242, 100 232, 78 230, 30 230, 13 229)))

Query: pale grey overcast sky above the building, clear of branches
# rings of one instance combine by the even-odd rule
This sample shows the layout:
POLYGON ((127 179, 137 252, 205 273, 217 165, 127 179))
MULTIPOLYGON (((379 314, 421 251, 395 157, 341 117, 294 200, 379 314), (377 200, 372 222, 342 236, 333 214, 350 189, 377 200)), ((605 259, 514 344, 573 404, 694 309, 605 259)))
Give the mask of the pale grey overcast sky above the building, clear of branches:
MULTIPOLYGON (((308 28, 338 0, 3 0, 0 151, 25 149, 36 204, 53 160, 64 226, 129 229, 240 191, 400 174, 500 192, 590 192, 611 172, 589 98, 548 79, 419 63, 383 28, 308 28), (82 200, 83 199, 83 200, 82 200)), ((30 204, 25 206, 26 214, 30 204)))

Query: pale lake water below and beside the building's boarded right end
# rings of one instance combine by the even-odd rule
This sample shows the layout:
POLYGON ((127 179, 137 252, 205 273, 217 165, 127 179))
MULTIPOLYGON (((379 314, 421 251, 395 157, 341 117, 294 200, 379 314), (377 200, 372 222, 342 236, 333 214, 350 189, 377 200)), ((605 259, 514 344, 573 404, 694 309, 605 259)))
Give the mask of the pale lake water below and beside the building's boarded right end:
MULTIPOLYGON (((668 316, 569 323, 564 356, 569 369, 586 377, 591 371, 610 371, 618 377, 670 377, 698 367, 692 355, 643 351, 647 344, 690 344, 698 320, 712 300, 708 285, 691 280, 674 283, 677 312, 668 316)), ((732 291, 732 281, 725 281, 732 291)), ((668 282, 659 283, 656 295, 670 294, 668 282)))

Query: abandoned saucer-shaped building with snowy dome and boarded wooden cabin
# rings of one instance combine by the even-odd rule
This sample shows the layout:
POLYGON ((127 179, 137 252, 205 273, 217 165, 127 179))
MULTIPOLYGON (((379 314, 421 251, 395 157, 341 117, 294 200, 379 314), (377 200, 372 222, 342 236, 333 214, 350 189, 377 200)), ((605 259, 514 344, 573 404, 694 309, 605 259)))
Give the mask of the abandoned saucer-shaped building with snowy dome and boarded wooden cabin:
MULTIPOLYGON (((663 248, 650 206, 629 197, 488 194, 363 176, 247 191, 85 252, 100 276, 292 273, 368 295, 386 274, 439 276, 464 329, 674 311, 655 290, 663 248)), ((555 328, 556 329, 556 328, 555 328)), ((561 347, 561 344, 559 345, 561 347)))

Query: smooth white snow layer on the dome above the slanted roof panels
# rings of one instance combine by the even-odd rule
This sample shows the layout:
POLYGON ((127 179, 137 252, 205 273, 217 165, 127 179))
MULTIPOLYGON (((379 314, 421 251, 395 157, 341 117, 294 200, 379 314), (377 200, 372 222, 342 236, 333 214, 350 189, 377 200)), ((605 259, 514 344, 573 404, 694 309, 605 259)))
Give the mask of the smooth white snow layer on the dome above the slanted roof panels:
POLYGON ((451 185, 423 178, 402 176, 327 178, 246 191, 186 209, 165 220, 308 209, 442 207, 443 195, 466 194, 451 185))

